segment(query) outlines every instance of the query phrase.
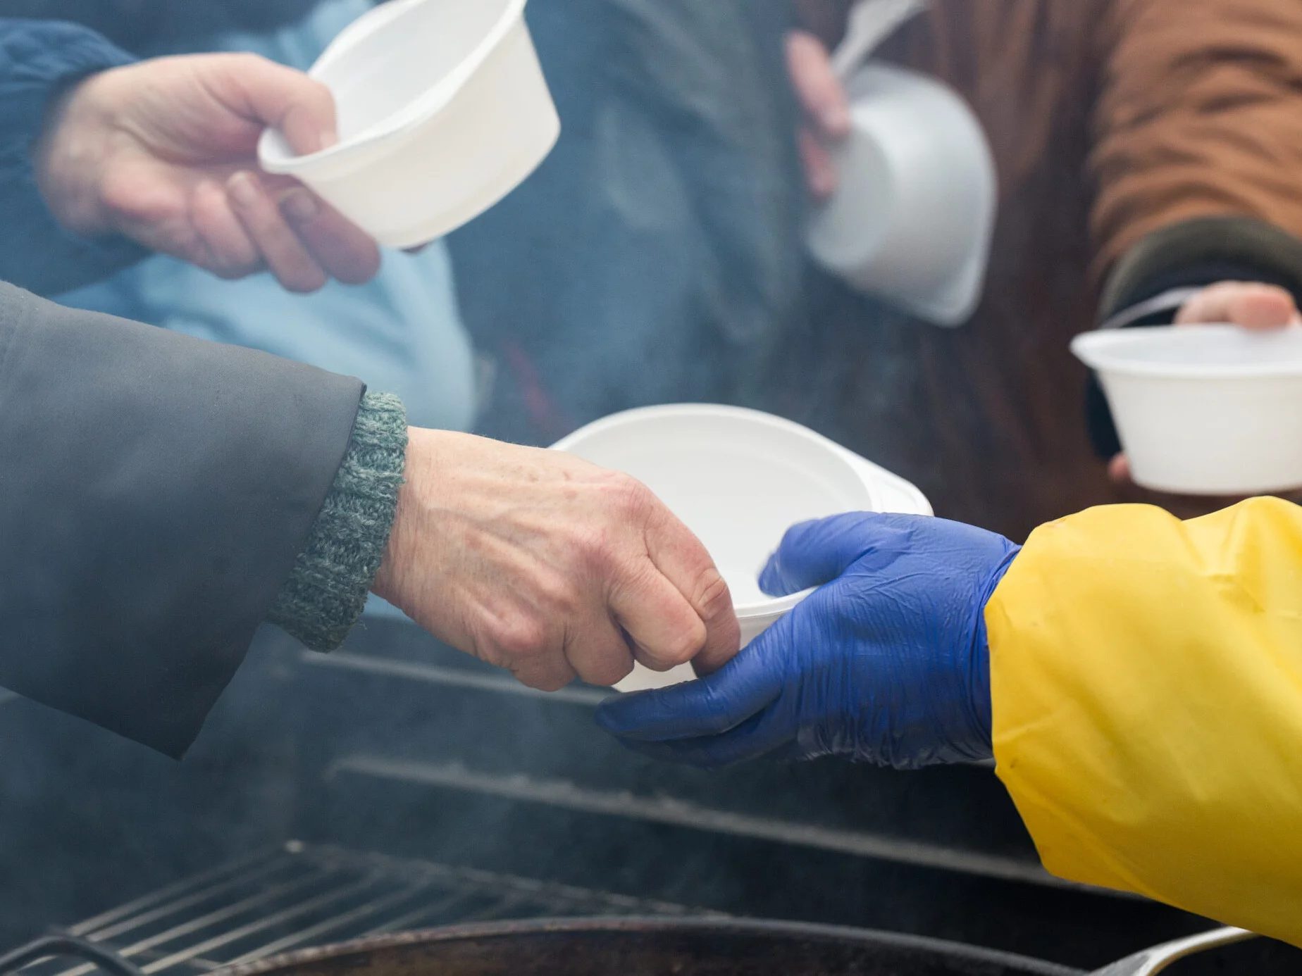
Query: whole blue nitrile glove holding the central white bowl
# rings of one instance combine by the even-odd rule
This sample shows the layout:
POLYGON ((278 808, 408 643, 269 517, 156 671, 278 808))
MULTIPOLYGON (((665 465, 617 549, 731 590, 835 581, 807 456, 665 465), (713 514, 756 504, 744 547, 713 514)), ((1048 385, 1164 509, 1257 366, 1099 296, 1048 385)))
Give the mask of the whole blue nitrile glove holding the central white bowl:
POLYGON ((798 524, 760 587, 825 586, 715 674, 609 699, 596 721, 638 752, 702 766, 766 753, 902 769, 988 759, 983 610, 1018 549, 926 515, 798 524))

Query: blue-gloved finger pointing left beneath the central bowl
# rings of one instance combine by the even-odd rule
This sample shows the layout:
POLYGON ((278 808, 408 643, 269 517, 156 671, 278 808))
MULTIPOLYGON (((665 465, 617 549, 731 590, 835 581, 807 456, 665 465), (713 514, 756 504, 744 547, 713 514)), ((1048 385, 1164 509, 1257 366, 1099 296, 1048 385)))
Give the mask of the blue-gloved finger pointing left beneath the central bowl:
POLYGON ((596 724, 612 735, 639 742, 691 739, 736 729, 781 694, 781 671, 764 651, 780 647, 788 629, 779 630, 779 625, 708 678, 607 699, 596 707, 596 724))

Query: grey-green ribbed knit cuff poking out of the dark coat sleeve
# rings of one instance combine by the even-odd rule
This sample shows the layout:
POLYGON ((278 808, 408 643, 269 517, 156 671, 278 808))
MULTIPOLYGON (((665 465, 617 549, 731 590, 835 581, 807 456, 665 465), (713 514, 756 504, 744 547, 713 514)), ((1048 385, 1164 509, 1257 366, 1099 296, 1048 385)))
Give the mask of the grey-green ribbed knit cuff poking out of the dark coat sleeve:
POLYGON ((389 541, 406 458, 406 410, 366 393, 344 463, 267 621, 312 651, 333 651, 362 616, 389 541))

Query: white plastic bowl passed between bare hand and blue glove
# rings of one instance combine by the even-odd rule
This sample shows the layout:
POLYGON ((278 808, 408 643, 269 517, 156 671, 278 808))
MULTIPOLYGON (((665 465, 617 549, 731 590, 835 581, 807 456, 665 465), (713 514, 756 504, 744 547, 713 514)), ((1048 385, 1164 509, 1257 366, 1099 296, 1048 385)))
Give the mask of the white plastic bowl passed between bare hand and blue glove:
MULTIPOLYGON (((892 508, 931 511, 907 481, 758 410, 642 407, 590 423, 553 446, 633 475, 697 534, 728 580, 743 645, 811 592, 771 597, 759 588, 759 571, 790 526, 840 511, 881 511, 885 492, 892 508)), ((637 665, 615 687, 634 691, 694 677, 690 665, 665 673, 637 665)))

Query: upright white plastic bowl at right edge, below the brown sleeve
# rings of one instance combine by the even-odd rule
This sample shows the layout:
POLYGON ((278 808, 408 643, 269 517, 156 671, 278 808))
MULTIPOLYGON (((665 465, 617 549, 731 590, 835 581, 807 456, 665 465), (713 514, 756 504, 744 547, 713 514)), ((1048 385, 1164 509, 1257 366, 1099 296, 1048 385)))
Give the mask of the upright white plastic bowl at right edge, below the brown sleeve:
POLYGON ((1087 332, 1137 484, 1184 495, 1302 487, 1302 327, 1087 332))

